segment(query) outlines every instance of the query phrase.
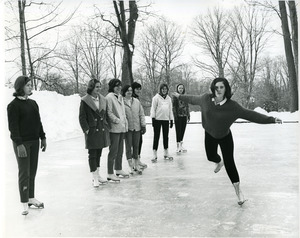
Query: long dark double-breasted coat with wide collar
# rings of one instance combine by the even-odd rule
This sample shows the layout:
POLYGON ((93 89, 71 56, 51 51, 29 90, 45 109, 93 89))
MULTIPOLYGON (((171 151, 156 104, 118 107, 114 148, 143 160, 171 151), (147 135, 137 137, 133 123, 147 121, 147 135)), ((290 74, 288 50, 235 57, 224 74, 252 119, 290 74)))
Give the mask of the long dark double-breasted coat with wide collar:
POLYGON ((102 149, 110 145, 107 102, 100 94, 99 101, 98 109, 91 95, 87 94, 81 98, 79 122, 85 135, 86 149, 102 149), (86 131, 89 131, 88 134, 86 131))

